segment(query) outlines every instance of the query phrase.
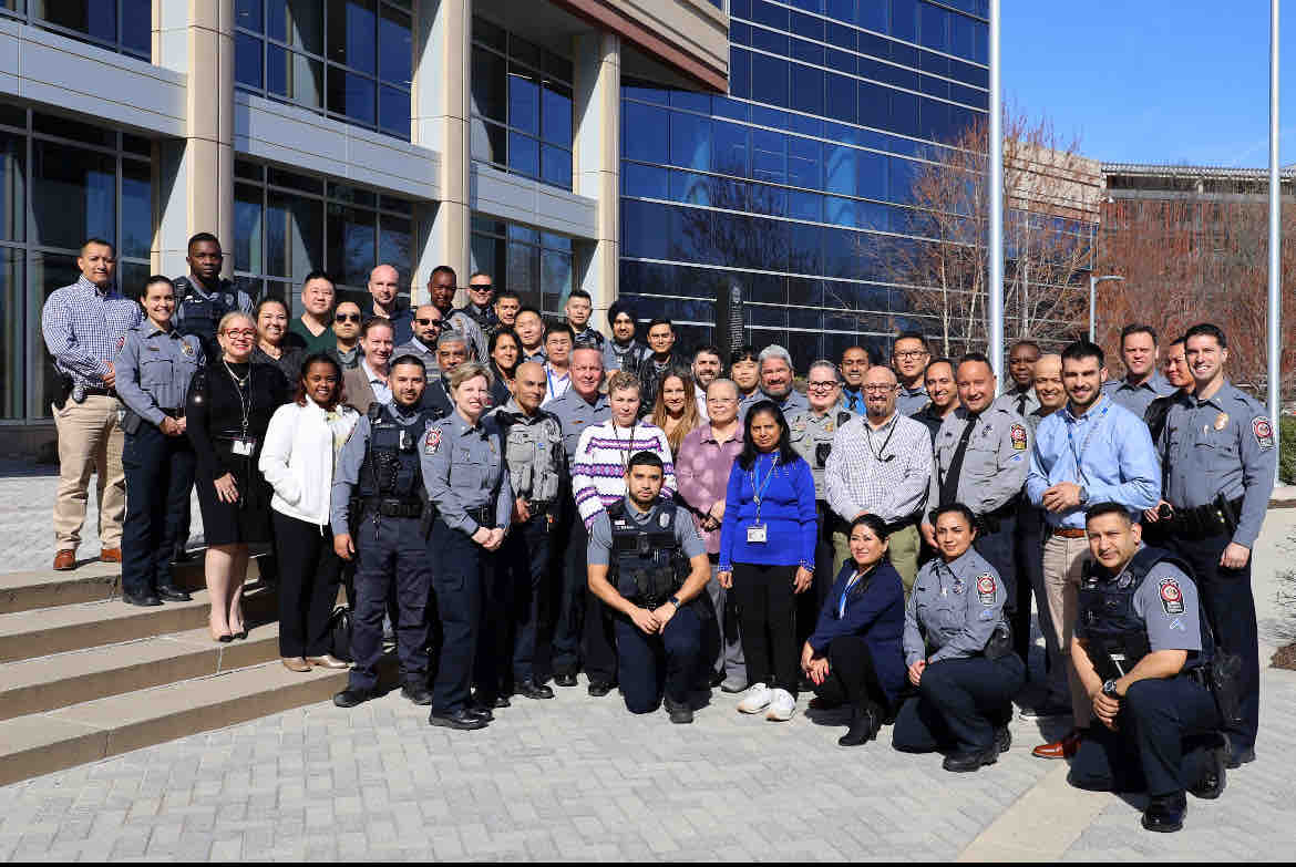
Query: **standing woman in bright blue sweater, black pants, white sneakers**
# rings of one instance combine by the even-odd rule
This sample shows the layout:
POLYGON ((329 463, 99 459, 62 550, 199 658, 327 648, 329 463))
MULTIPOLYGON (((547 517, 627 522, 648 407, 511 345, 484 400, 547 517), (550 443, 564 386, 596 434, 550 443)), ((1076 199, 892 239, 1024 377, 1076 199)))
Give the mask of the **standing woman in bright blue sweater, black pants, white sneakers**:
POLYGON ((814 476, 772 400, 753 406, 745 425, 724 494, 715 578, 737 596, 752 683, 737 709, 781 722, 797 709, 796 594, 814 581, 814 476))

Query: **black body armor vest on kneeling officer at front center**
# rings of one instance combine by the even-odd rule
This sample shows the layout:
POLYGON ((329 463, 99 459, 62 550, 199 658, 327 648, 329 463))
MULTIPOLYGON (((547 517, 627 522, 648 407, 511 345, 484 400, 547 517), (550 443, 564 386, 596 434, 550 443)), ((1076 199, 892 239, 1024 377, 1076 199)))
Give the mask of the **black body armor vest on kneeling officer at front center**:
POLYGON ((643 525, 630 520, 625 502, 608 507, 612 583, 636 605, 657 608, 684 586, 689 568, 675 542, 675 520, 673 503, 657 504, 643 525))

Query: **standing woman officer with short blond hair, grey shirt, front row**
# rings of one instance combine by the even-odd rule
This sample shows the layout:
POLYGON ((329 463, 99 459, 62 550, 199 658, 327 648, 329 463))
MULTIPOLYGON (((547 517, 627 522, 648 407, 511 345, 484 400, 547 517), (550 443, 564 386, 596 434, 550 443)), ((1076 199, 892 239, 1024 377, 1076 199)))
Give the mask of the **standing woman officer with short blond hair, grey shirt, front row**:
POLYGON ((482 605, 482 596, 513 512, 499 421, 483 416, 490 378, 476 362, 455 368, 455 410, 428 429, 421 450, 428 500, 437 507, 426 556, 437 559, 433 587, 442 631, 428 722, 459 730, 483 728, 502 697, 492 654, 477 653, 482 619, 499 616, 482 605), (476 700, 469 695, 473 683, 476 700))

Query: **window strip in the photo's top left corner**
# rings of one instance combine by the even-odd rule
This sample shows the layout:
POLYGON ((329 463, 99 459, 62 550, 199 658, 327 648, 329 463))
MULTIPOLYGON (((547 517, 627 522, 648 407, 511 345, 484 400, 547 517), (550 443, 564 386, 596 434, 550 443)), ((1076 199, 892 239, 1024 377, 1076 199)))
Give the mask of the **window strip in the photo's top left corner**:
POLYGON ((152 57, 152 0, 0 0, 0 17, 122 54, 152 57))

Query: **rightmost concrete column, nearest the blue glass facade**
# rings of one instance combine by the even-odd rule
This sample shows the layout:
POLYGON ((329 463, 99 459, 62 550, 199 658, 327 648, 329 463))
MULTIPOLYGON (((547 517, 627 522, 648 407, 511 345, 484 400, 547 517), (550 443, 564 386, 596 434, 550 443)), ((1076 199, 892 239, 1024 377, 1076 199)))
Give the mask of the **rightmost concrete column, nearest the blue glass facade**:
POLYGON ((597 237, 581 245, 577 268, 595 311, 605 315, 617 299, 621 255, 621 38, 583 34, 573 56, 574 192, 599 202, 597 237))

